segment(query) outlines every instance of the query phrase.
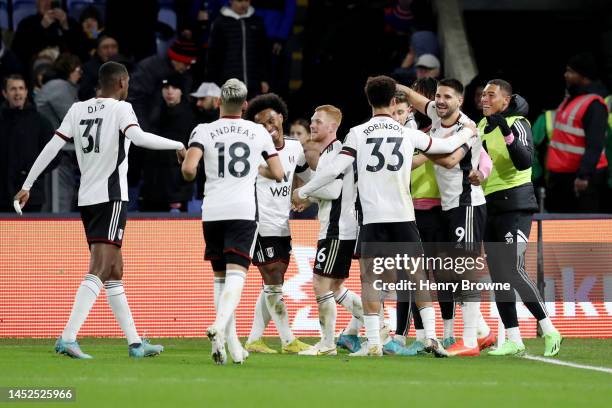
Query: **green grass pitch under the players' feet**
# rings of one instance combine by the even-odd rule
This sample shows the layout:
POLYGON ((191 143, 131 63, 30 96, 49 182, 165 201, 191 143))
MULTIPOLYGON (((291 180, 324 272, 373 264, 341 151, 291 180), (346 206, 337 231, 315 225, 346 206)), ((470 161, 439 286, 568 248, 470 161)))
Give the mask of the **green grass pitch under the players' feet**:
MULTIPOLYGON (((0 407, 609 407, 612 400, 612 374, 518 357, 252 354, 242 366, 215 366, 206 339, 159 343, 161 356, 132 360, 123 340, 82 339, 94 356, 85 361, 55 354, 53 340, 0 340, 0 387, 76 389, 72 403, 0 407)), ((541 355, 543 340, 527 349, 541 355)), ((612 368, 611 351, 612 340, 567 339, 558 358, 612 368)))

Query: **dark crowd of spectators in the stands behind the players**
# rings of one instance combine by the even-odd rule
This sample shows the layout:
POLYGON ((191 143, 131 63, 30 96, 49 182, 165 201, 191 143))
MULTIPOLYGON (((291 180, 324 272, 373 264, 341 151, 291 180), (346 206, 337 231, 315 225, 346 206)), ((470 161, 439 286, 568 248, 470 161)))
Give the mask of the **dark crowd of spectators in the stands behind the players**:
MULTIPOLYGON (((145 131, 186 143, 196 124, 217 118, 219 86, 237 77, 247 84, 249 97, 267 92, 283 97, 290 113, 285 123, 301 123, 303 132, 308 123, 300 118, 309 118, 315 106, 340 107, 342 137, 370 114, 363 92, 368 76, 388 74, 405 84, 443 77, 434 3, 444 4, 0 0, 0 211, 12 211, 13 195, 71 104, 96 95, 97 71, 106 61, 128 67, 128 102, 145 131)), ((556 109, 567 91, 564 71, 570 56, 586 51, 579 65, 589 92, 606 97, 606 89, 612 89, 612 58, 606 59, 603 51, 605 44, 610 48, 604 40, 612 22, 605 16, 595 9, 466 11, 468 39, 480 73, 465 84, 463 110, 478 121, 486 81, 509 80, 530 103, 535 158, 543 163, 546 111, 556 109)), ((609 138, 602 137, 607 147, 609 138)), ((612 154, 612 148, 607 150, 612 154)), ((173 153, 132 146, 129 161, 132 210, 198 211, 202 180, 183 182, 173 153)), ((53 168, 46 181, 33 188, 30 210, 76 209, 79 175, 70 145, 53 168)), ((545 169, 536 166, 535 185, 546 186, 546 181, 545 169)), ((598 188, 596 208, 568 211, 612 212, 612 182, 598 188)))

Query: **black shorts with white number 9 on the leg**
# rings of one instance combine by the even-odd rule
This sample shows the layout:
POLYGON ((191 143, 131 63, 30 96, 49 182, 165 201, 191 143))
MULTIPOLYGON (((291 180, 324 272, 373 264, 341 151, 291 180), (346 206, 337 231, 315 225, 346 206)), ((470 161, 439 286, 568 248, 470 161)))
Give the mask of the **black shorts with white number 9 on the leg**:
POLYGON ((467 251, 480 251, 487 227, 487 205, 459 206, 443 211, 448 242, 467 251))

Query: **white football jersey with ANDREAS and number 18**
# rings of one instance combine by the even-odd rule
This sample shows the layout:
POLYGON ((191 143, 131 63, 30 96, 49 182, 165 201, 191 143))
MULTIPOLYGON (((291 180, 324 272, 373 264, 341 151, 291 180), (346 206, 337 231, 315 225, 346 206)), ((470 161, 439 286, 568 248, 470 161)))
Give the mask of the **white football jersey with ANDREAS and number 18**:
POLYGON ((222 117, 196 126, 189 147, 204 152, 202 221, 256 221, 261 158, 278 155, 268 131, 239 117, 222 117))

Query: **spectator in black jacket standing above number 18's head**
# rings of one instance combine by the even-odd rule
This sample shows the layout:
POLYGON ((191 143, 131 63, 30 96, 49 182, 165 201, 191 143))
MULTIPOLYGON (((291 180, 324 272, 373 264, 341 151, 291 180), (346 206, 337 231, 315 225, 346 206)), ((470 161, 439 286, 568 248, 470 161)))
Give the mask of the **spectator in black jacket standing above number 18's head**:
POLYGON ((270 90, 268 40, 261 17, 250 0, 230 0, 214 21, 209 39, 208 74, 217 85, 230 78, 243 81, 249 98, 270 90))

